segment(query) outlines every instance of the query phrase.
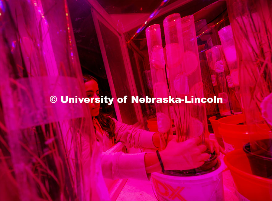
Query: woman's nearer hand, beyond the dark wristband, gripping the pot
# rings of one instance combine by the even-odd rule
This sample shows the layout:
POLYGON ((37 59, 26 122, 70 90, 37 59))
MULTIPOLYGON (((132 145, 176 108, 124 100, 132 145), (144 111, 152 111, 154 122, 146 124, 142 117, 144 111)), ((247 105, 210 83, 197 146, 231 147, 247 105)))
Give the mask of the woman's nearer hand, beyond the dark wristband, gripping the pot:
POLYGON ((209 158, 205 145, 199 145, 200 138, 193 138, 184 142, 172 139, 167 147, 160 151, 160 156, 165 170, 186 170, 198 168, 209 158))

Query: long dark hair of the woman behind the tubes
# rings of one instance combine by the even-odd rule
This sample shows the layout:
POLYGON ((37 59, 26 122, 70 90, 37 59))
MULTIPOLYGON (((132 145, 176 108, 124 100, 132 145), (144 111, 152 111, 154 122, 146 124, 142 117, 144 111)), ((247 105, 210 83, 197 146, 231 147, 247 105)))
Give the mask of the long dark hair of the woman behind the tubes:
MULTIPOLYGON (((91 75, 83 75, 83 80, 84 83, 94 80, 98 84, 98 80, 91 75)), ((98 120, 101 128, 108 132, 109 137, 114 137, 115 122, 112 120, 111 115, 105 114, 99 109, 99 115, 96 117, 96 119, 98 120)))

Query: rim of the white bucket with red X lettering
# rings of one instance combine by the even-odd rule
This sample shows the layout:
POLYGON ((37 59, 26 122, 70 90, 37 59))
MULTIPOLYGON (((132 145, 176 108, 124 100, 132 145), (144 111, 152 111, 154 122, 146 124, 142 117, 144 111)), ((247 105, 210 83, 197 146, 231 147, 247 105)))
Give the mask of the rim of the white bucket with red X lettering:
POLYGON ((225 163, 223 161, 223 159, 221 159, 220 157, 217 157, 217 161, 219 161, 221 164, 219 166, 218 169, 207 173, 207 174, 203 174, 203 175, 198 175, 198 176, 171 176, 171 175, 165 175, 162 173, 151 173, 151 176, 159 176, 162 177, 164 179, 173 179, 173 180, 182 180, 182 181, 192 181, 192 180, 201 180, 201 179, 207 179, 207 178, 211 178, 215 175, 219 175, 220 173, 222 173, 225 169, 225 163))

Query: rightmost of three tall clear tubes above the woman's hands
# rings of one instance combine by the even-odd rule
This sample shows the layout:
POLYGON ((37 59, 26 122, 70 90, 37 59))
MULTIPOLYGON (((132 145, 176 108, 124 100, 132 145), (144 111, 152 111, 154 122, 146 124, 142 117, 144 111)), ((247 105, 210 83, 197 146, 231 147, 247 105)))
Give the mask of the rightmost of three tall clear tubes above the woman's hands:
MULTIPOLYGON (((181 18, 181 25, 184 46, 183 65, 184 71, 188 76, 189 97, 201 99, 204 97, 203 82, 201 78, 194 16, 189 15, 181 18)), ((201 102, 189 103, 189 106, 191 116, 189 122, 190 135, 194 137, 201 133, 202 143, 204 143, 205 139, 209 138, 205 104, 201 102)))

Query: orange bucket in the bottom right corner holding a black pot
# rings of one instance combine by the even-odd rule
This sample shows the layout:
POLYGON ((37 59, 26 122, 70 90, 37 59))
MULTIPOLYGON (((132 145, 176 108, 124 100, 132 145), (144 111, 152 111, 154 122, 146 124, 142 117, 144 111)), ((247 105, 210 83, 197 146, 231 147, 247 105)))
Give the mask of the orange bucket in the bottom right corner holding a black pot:
POLYGON ((236 188, 249 200, 271 200, 272 179, 253 175, 243 149, 229 152, 224 162, 230 169, 236 188))

